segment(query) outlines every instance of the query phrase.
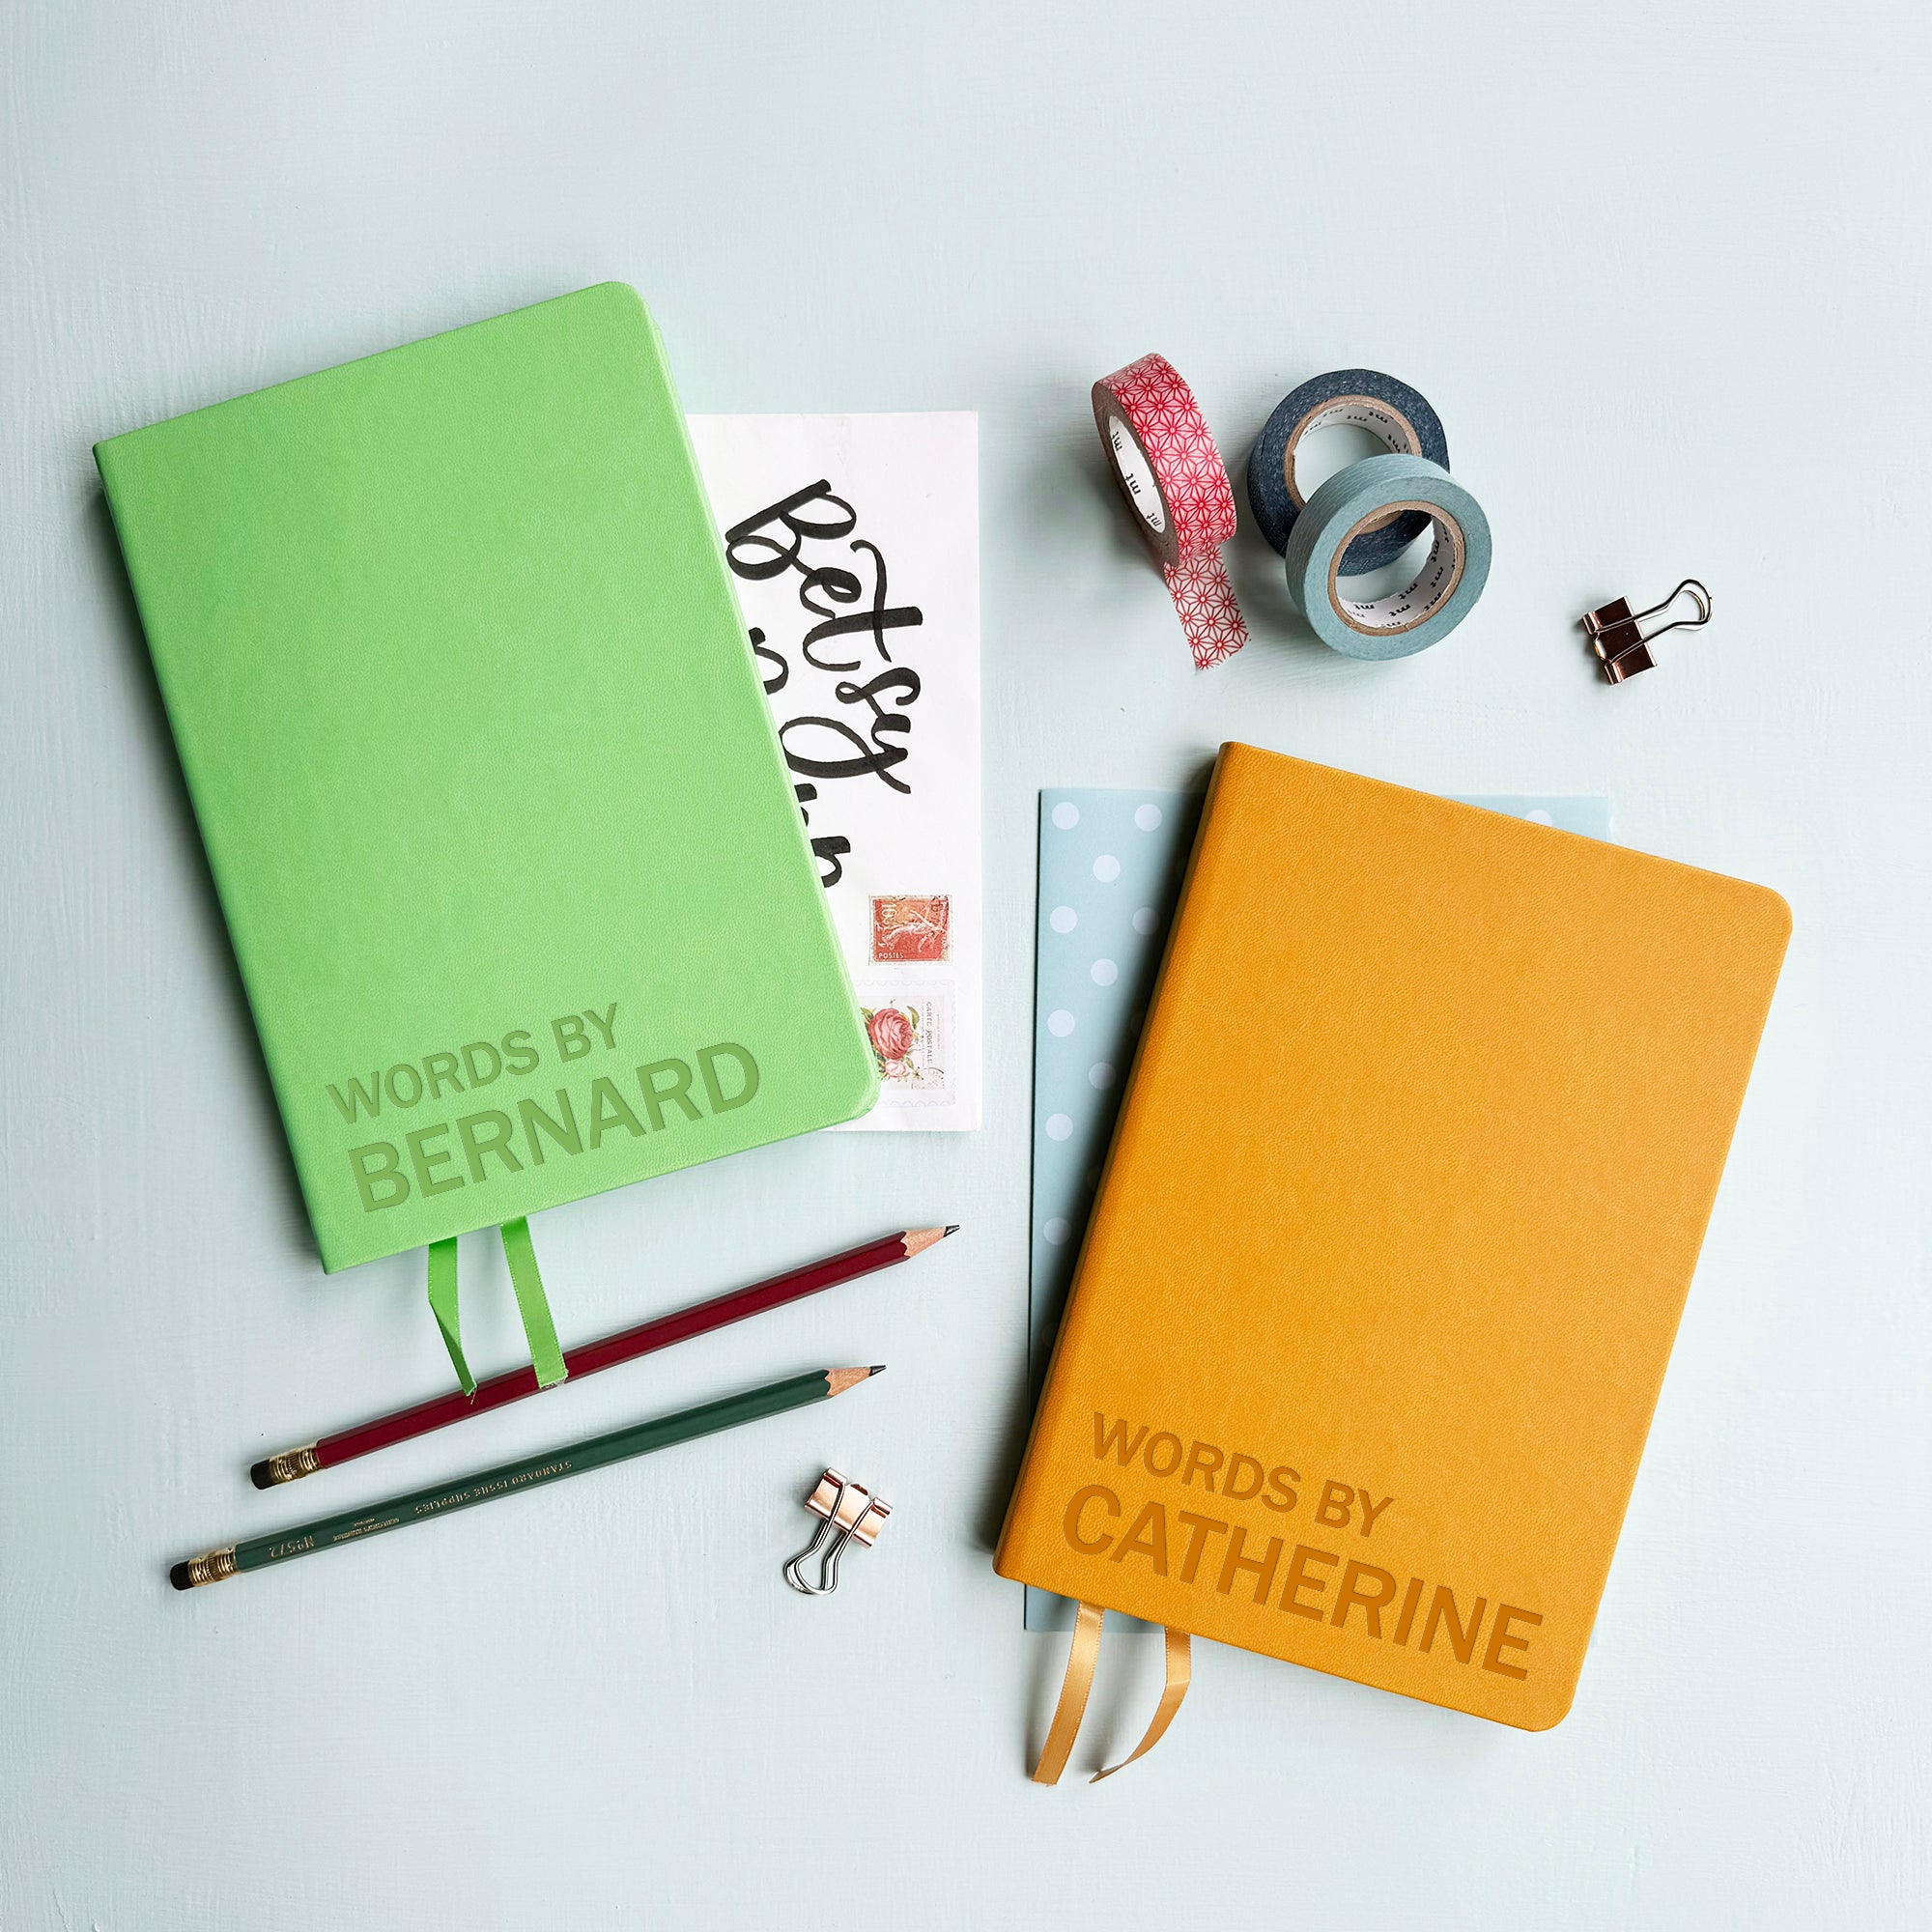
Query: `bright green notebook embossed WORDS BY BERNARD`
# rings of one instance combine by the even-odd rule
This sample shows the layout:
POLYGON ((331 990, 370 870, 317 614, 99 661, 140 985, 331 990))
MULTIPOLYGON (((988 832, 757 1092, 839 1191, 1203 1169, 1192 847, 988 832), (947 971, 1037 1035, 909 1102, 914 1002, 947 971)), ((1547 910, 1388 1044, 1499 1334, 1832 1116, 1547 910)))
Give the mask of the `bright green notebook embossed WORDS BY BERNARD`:
POLYGON ((634 290, 95 458, 323 1267, 871 1105, 634 290))

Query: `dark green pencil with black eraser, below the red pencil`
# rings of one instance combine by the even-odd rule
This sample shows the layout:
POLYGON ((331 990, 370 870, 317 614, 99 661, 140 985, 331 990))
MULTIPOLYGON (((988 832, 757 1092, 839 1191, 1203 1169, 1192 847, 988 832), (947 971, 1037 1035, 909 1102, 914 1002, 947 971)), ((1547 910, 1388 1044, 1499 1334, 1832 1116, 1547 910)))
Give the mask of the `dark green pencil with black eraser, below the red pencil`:
POLYGON ((777 1416, 786 1408, 804 1408, 806 1403, 829 1401, 835 1395, 844 1395, 867 1376, 881 1374, 883 1368, 883 1362, 877 1368, 815 1368, 810 1376, 790 1376, 786 1381, 771 1381, 763 1389, 746 1389, 744 1395, 726 1395, 717 1403, 703 1403, 699 1408, 682 1408, 674 1416, 634 1422, 628 1430, 612 1430, 609 1435, 593 1435, 589 1441, 553 1449, 549 1455, 485 1468, 475 1476, 458 1476, 456 1482, 440 1482, 433 1490, 412 1490, 408 1495, 375 1503, 369 1509, 321 1517, 315 1522, 299 1522, 292 1530, 274 1530, 269 1536, 251 1536, 245 1544, 228 1544, 207 1555, 176 1563, 168 1571, 168 1580, 176 1590, 199 1590, 205 1582, 220 1582, 242 1571, 267 1569, 270 1563, 305 1557, 313 1549, 359 1544, 365 1536, 381 1536, 384 1530, 400 1530, 412 1522, 429 1522, 456 1509, 489 1503, 498 1495, 535 1490, 547 1482, 562 1482, 566 1476, 582 1476, 589 1468, 628 1463, 634 1455, 668 1449, 694 1435, 715 1435, 719 1430, 734 1430, 740 1422, 757 1422, 761 1416, 777 1416))

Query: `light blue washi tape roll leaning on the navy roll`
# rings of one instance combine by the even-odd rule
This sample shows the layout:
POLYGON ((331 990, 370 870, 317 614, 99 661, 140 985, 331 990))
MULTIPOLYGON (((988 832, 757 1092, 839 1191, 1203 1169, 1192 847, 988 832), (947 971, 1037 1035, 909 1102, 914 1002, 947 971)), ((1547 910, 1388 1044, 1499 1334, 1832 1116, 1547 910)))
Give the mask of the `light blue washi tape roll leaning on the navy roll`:
POLYGON ((1410 657, 1468 616, 1490 578, 1490 520, 1441 464, 1368 456, 1323 483, 1289 531, 1289 597, 1314 634, 1345 657, 1410 657), (1414 582, 1366 603, 1337 589, 1343 551, 1391 510, 1430 520, 1430 554, 1414 582))

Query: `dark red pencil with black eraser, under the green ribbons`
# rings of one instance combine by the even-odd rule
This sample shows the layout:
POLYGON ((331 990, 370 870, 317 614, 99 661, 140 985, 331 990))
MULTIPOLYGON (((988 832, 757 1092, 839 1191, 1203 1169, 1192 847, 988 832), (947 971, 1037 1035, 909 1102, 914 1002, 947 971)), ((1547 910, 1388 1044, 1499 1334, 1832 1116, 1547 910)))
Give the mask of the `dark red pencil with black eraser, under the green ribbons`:
MULTIPOLYGON (((639 1354, 655 1354, 672 1343, 688 1341, 692 1335, 709 1335, 711 1329, 744 1321, 746 1316, 763 1314, 767 1308, 781 1308, 819 1289, 833 1289, 840 1281, 869 1275, 895 1262, 910 1262, 923 1254, 935 1240, 956 1233, 956 1227, 914 1227, 900 1235, 885 1235, 866 1242, 864 1248, 848 1248, 844 1254, 827 1256, 823 1262, 810 1262, 790 1273, 773 1275, 769 1281, 753 1281, 748 1289, 732 1289, 717 1294, 709 1302, 694 1308, 680 1308, 676 1314, 659 1316, 634 1329, 605 1335, 601 1341, 587 1341, 582 1349, 564 1350, 566 1379, 595 1376, 599 1368, 614 1368, 618 1362, 636 1362, 639 1354)), ((377 1416, 354 1430, 338 1430, 303 1449, 284 1449, 267 1457, 249 1470, 249 1480, 257 1490, 272 1490, 282 1482, 296 1482, 313 1476, 319 1468, 334 1468, 336 1463, 352 1463, 359 1455, 386 1449, 390 1443, 404 1443, 415 1435, 429 1435, 431 1430, 444 1430, 452 1422, 481 1416, 489 1408, 502 1408, 506 1403, 520 1403, 526 1395, 537 1393, 537 1372, 527 1362, 522 1368, 504 1370, 479 1381, 475 1395, 450 1389, 448 1395, 433 1395, 427 1403, 412 1408, 398 1408, 394 1414, 377 1416)))

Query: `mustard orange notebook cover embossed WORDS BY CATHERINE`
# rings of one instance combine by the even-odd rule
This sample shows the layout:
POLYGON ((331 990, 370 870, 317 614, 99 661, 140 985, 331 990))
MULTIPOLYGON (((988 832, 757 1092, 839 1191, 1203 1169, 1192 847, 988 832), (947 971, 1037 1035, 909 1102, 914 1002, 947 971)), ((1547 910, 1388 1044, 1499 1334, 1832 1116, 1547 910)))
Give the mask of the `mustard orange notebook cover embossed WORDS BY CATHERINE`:
POLYGON ((1789 931, 1225 746, 999 1573, 1557 1723, 1789 931))

